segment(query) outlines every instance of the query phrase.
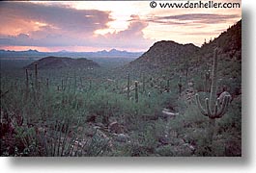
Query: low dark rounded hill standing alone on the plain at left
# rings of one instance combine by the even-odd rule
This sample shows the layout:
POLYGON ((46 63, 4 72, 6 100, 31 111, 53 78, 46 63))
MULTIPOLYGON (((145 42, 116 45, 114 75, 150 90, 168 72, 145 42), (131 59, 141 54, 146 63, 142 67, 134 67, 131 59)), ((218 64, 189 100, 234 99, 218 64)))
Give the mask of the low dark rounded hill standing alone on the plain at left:
POLYGON ((100 67, 97 62, 81 59, 71 59, 67 57, 45 57, 37 62, 25 66, 24 68, 34 69, 35 63, 39 69, 59 69, 59 68, 95 68, 100 67))

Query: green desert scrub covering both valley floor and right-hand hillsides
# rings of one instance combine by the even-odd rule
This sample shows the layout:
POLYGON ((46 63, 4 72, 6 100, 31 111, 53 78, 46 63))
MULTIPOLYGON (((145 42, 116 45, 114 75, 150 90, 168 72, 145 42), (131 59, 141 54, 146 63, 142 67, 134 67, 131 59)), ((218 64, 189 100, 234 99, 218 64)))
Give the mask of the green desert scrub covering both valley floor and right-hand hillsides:
POLYGON ((1 60, 1 156, 241 157, 240 28, 201 48, 160 41, 98 68, 1 60))

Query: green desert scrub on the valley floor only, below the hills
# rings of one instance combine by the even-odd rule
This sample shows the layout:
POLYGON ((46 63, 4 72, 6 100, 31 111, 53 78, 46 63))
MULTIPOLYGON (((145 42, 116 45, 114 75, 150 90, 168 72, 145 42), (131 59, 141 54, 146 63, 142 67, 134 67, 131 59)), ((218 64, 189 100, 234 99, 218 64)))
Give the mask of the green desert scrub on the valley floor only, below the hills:
POLYGON ((179 75, 121 79, 105 68, 26 70, 24 62, 1 63, 1 156, 241 155, 241 97, 216 122, 209 147, 208 120, 195 99, 186 102, 179 75), (167 117, 163 109, 179 114, 167 117))

